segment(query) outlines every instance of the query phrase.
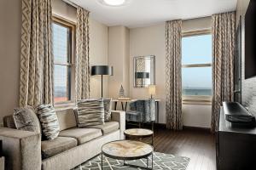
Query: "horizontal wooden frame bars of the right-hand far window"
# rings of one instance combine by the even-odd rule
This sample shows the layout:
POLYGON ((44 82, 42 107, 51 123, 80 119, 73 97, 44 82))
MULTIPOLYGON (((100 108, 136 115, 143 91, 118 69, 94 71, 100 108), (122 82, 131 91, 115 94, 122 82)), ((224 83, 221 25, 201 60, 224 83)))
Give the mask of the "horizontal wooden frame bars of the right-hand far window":
MULTIPOLYGON (((195 37, 203 35, 212 35, 211 29, 200 30, 200 31, 185 31, 182 32, 183 37, 195 37)), ((212 63, 207 64, 191 64, 182 65, 182 68, 199 68, 199 67, 212 67, 212 63)), ((183 105, 212 105, 212 95, 183 95, 183 105)))

